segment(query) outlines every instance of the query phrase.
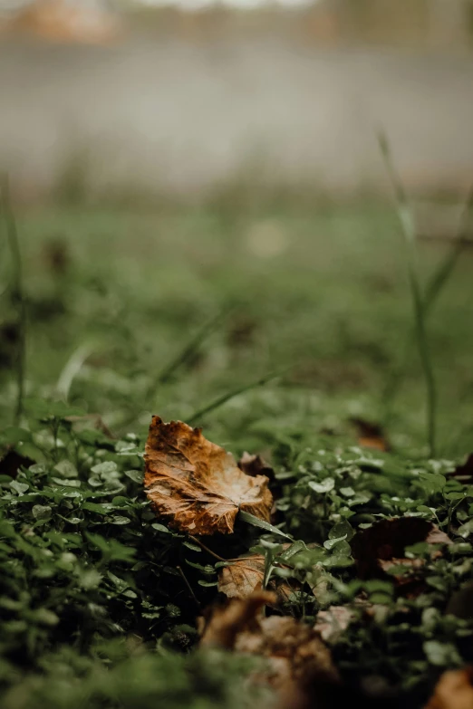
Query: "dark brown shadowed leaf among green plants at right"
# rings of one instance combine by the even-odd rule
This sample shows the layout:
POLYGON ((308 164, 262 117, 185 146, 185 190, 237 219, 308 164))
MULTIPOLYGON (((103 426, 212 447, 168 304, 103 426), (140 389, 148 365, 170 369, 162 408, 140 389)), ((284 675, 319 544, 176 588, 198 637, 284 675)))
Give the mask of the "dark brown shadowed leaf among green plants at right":
MULTIPOLYGON (((352 555, 361 579, 380 577, 394 565, 420 569, 422 560, 406 559, 404 549, 420 541, 428 544, 451 544, 445 532, 432 522, 419 517, 398 517, 375 522, 372 527, 356 532, 350 541, 352 555)), ((432 549, 432 558, 439 551, 432 549)), ((390 576, 399 585, 405 583, 403 575, 390 576)), ((411 581, 411 580, 409 580, 411 581)))

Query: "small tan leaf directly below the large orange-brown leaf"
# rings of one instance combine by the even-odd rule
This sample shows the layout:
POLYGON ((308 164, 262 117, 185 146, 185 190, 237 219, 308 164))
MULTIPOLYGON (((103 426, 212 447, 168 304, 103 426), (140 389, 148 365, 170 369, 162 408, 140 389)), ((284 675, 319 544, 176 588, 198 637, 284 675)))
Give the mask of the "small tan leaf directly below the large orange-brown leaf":
MULTIPOLYGON (((228 599, 246 599, 254 591, 261 590, 264 576, 265 557, 263 554, 242 557, 220 569, 218 590, 225 593, 228 599)), ((294 593, 294 589, 284 579, 276 578, 269 581, 268 590, 274 591, 277 597, 276 604, 270 605, 282 603, 290 599, 294 593)))

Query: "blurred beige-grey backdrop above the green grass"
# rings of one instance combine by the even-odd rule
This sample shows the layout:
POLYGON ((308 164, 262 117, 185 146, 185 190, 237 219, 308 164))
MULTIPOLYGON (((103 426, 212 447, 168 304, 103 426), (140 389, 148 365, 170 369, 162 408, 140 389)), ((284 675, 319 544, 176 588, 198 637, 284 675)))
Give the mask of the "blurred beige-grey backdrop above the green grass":
POLYGON ((468 185, 470 0, 0 7, 0 164, 25 198, 79 171, 102 196, 378 190, 381 125, 409 185, 468 185))

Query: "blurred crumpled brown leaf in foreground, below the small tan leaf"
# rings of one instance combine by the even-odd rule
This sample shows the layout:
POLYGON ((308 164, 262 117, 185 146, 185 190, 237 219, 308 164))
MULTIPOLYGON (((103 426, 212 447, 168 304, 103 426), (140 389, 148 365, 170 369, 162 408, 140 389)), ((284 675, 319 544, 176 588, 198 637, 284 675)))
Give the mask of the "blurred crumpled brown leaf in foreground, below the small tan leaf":
POLYGON ((312 628, 292 617, 264 618, 260 614, 261 608, 273 603, 274 594, 259 591, 244 600, 231 600, 225 608, 216 608, 200 644, 265 657, 268 670, 264 677, 258 677, 279 690, 314 676, 336 681, 330 652, 312 628))

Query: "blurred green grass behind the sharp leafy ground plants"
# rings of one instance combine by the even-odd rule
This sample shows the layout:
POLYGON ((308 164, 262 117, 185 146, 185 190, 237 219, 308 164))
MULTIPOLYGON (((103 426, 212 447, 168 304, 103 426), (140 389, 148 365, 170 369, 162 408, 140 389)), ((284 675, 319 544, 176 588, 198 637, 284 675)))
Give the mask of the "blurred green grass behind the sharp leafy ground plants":
MULTIPOLYGON (((309 417, 313 425, 314 417, 333 416, 343 425, 356 412, 382 420, 386 384, 401 362, 391 432, 400 445, 425 443, 415 345, 403 360, 401 340, 412 329, 410 292, 390 206, 249 215, 51 209, 21 215, 19 228, 30 301, 30 394, 53 395, 67 361, 85 346, 92 353, 72 381, 70 400, 119 430, 144 430, 150 411, 187 418, 232 389, 290 368, 265 389, 250 390, 208 416, 208 426, 227 437, 226 419, 256 410, 248 400, 265 407, 270 399, 275 418, 288 407, 292 416, 300 411, 302 425, 309 417), (273 232, 281 253, 261 255, 265 233, 271 238, 273 232), (64 273, 47 263, 52 243, 62 244, 69 262, 64 273), (174 380, 159 381, 220 314, 221 322, 203 333, 174 380)), ((3 249, 6 286, 5 244, 3 249)), ((421 245, 421 281, 448 249, 421 245)), ((439 389, 439 455, 464 453, 471 433, 471 258, 462 254, 428 321, 439 389)), ((8 321, 14 312, 5 296, 4 303, 8 321)), ((4 421, 11 417, 13 385, 6 392, 4 421)), ((231 428, 235 439, 239 434, 231 428)))

